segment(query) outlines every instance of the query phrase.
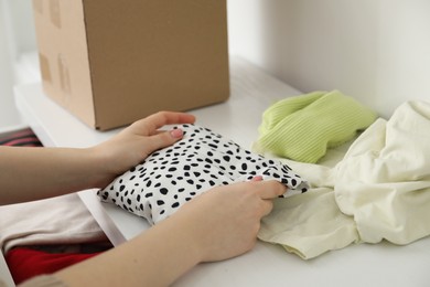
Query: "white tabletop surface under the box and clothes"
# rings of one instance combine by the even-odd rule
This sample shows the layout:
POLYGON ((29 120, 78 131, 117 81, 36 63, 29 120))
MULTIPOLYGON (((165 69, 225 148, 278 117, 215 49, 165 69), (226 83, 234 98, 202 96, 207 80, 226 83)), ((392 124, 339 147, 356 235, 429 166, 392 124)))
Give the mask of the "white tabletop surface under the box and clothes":
MULTIPOLYGON (((299 92, 240 59, 232 61, 230 73, 229 100, 190 113, 198 125, 249 148, 262 111, 276 99, 299 92)), ((47 98, 41 84, 17 87, 15 102, 45 146, 88 147, 118 132, 88 128, 47 98)), ((114 244, 149 227, 144 220, 100 203, 94 190, 79 192, 79 196, 114 244)), ((174 286, 430 286, 429 267, 429 237, 407 246, 352 245, 311 261, 259 242, 243 256, 196 266, 174 286)))

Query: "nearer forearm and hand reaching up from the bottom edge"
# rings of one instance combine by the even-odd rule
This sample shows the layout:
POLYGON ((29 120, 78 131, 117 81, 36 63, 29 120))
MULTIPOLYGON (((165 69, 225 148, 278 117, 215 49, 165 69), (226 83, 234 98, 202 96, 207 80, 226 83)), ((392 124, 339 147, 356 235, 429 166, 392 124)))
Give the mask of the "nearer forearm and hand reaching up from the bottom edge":
POLYGON ((258 180, 214 188, 133 240, 55 276, 67 286, 170 286, 201 262, 252 248, 271 199, 284 191, 258 180))

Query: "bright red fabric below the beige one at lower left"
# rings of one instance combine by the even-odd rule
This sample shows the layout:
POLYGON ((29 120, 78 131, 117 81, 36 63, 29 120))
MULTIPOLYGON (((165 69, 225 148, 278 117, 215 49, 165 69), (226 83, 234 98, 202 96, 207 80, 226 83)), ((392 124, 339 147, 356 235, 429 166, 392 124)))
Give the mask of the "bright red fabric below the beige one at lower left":
POLYGON ((90 254, 51 254, 25 247, 17 247, 8 252, 6 261, 13 280, 18 285, 37 275, 53 274, 100 253, 101 252, 90 254))

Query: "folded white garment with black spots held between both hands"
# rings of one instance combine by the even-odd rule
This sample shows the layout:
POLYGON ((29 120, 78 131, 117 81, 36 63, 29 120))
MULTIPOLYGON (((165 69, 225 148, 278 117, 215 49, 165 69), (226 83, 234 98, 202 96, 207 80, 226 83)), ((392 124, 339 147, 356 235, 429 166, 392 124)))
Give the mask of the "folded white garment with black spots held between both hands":
POLYGON ((288 191, 283 198, 309 188, 288 166, 251 153, 207 128, 195 125, 175 128, 184 131, 183 139, 153 152, 98 191, 101 201, 154 224, 211 188, 251 180, 255 176, 286 184, 288 191))

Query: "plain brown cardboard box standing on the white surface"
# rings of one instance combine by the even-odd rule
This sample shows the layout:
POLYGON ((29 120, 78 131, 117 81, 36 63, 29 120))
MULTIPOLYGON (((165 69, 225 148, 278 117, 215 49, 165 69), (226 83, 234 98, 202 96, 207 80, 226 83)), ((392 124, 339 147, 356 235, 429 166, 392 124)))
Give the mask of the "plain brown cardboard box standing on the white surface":
POLYGON ((106 130, 229 95, 226 0, 33 0, 45 93, 106 130))

